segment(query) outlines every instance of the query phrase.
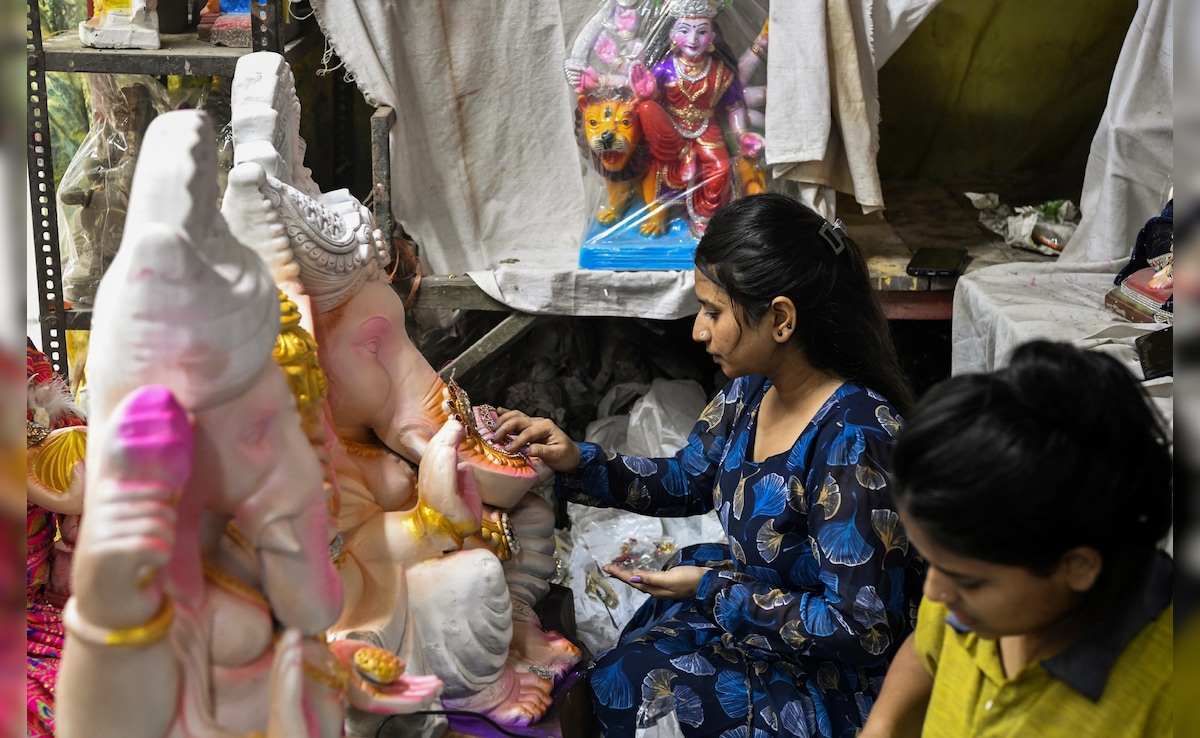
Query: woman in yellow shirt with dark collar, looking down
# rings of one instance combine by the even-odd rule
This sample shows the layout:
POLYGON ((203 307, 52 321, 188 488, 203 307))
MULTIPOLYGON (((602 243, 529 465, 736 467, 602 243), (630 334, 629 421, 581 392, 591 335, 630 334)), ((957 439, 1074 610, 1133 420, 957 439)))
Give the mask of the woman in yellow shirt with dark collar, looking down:
POLYGON ((895 474, 929 569, 862 738, 1171 733, 1171 458, 1124 366, 1034 342, 954 377, 895 474))

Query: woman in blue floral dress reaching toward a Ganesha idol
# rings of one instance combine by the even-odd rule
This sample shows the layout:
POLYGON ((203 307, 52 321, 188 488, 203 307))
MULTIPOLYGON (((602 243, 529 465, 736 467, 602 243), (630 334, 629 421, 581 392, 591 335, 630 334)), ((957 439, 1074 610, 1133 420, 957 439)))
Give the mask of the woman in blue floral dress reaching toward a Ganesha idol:
POLYGON ((922 566, 892 497, 911 392, 858 246, 778 194, 712 220, 694 337, 728 377, 672 458, 606 454, 550 420, 500 416, 564 499, 654 516, 716 510, 722 544, 662 571, 589 673, 605 736, 672 710, 684 736, 853 736, 912 630, 922 566))

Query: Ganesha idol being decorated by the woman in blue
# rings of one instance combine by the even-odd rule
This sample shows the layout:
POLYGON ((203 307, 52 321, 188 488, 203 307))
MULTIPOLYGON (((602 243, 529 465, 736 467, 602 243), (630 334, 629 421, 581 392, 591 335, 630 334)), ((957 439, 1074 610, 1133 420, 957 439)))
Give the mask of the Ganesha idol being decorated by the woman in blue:
POLYGON ((536 721, 580 658, 534 613, 554 571, 536 473, 493 437, 494 409, 443 382, 409 340, 370 211, 344 190, 320 192, 304 167, 283 58, 242 56, 232 96, 222 212, 305 313, 329 384, 346 592, 330 632, 436 674, 445 708, 536 721))

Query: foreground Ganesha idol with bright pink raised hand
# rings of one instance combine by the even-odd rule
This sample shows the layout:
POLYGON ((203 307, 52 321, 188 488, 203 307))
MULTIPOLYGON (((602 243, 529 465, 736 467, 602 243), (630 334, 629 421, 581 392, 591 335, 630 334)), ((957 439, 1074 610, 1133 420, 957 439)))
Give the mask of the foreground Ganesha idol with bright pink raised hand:
POLYGON ((440 686, 326 643, 330 488, 272 361, 278 292, 216 211, 215 140, 202 113, 151 124, 97 294, 60 738, 334 738, 347 703, 413 712, 440 686))

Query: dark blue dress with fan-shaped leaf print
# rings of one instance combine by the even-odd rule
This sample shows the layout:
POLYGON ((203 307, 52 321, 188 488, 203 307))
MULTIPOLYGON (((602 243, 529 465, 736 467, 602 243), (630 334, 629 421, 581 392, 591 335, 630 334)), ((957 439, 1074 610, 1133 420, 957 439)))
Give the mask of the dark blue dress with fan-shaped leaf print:
POLYGON ((716 510, 694 600, 650 599, 589 672, 607 738, 674 709, 685 736, 853 736, 916 623, 923 568, 890 493, 894 407, 846 383, 790 451, 749 458, 764 377, 734 379, 672 458, 582 443, 557 494, 655 516, 716 510))

